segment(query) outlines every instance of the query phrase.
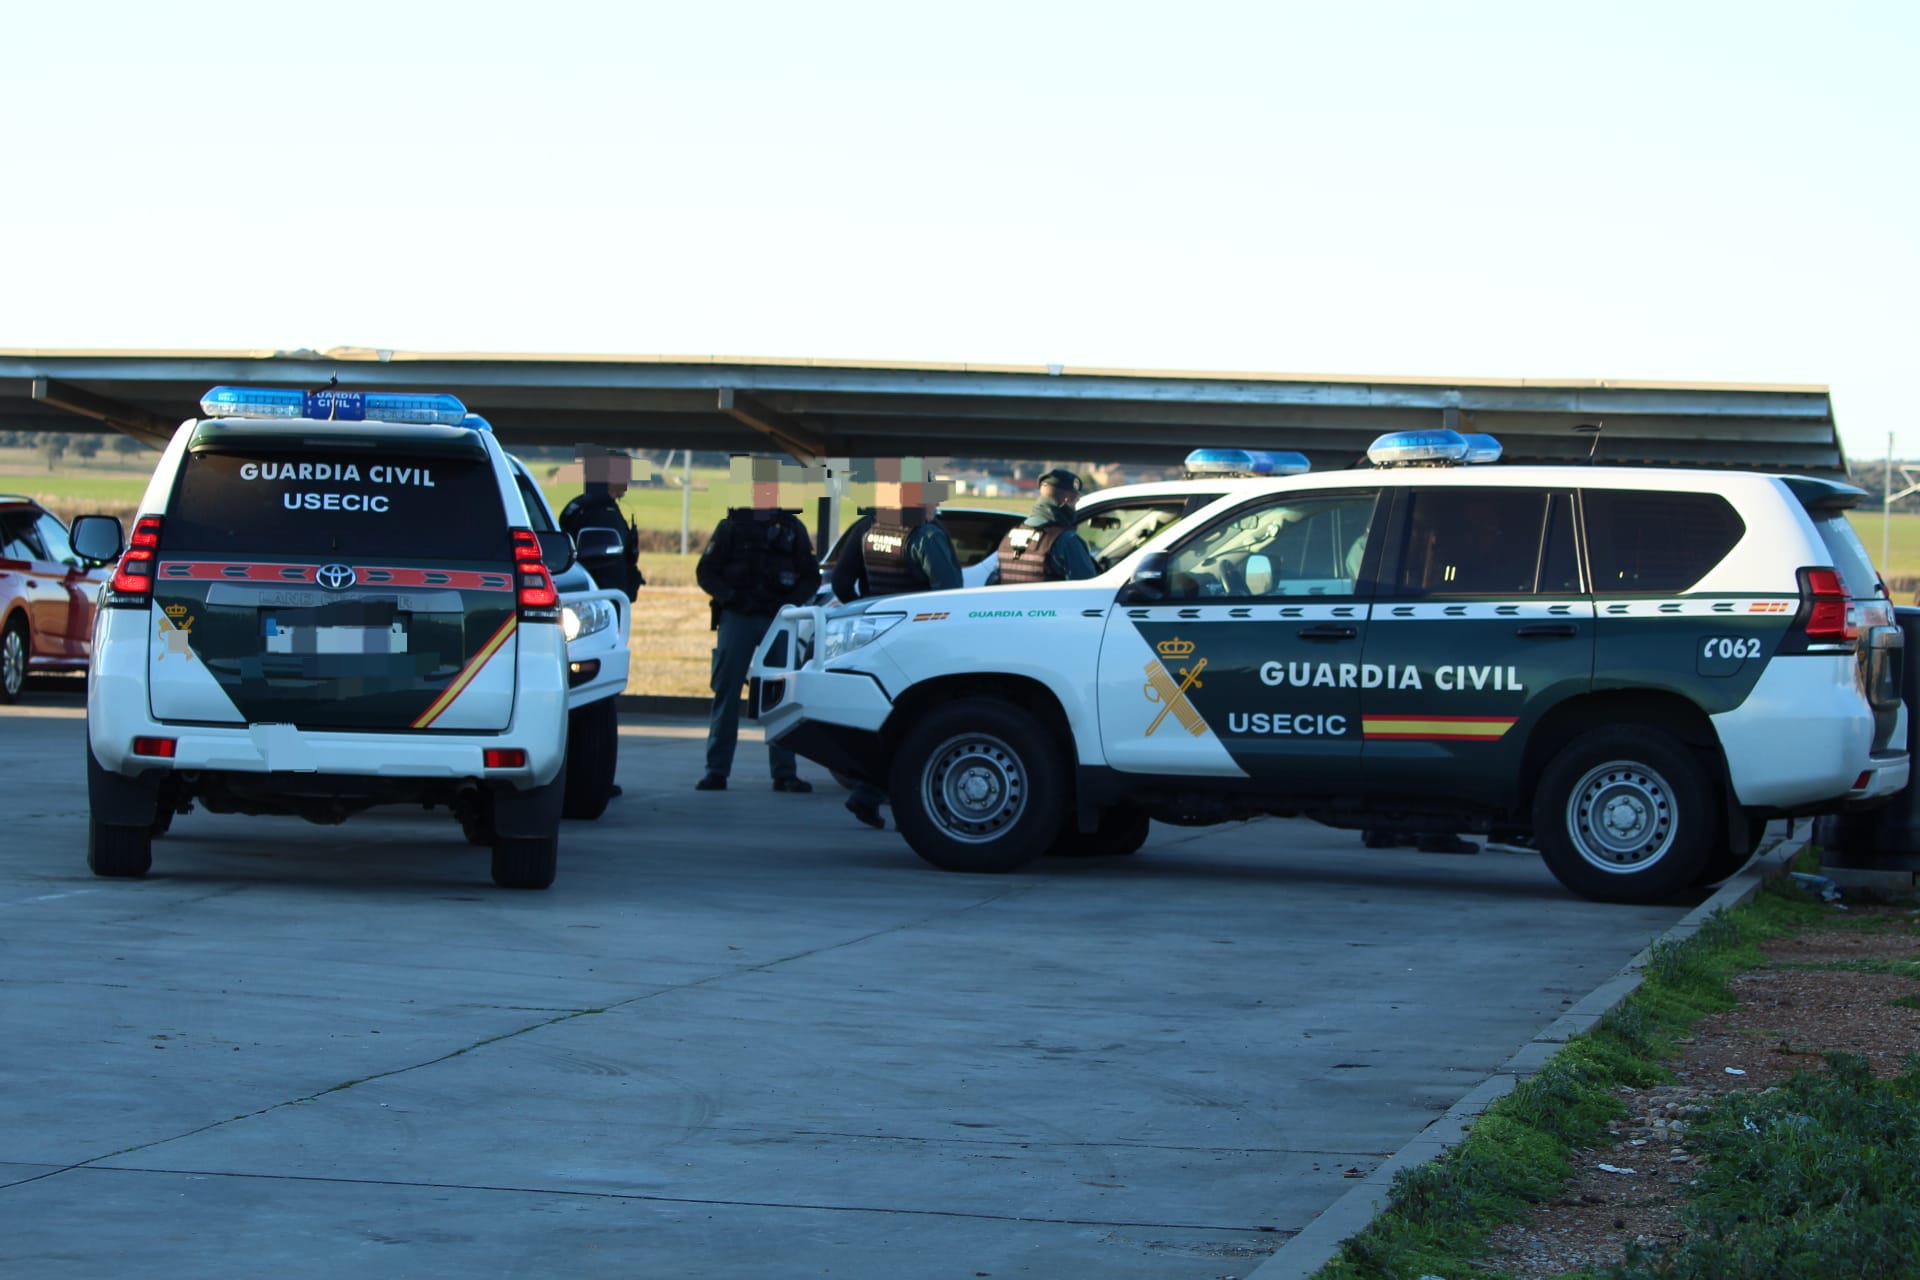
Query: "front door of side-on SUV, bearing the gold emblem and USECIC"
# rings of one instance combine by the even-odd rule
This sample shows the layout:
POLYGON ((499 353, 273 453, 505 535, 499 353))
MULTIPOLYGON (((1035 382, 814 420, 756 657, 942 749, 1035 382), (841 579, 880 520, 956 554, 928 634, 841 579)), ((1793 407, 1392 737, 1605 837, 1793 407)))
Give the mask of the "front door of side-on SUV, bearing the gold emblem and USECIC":
POLYGON ((1359 789, 1361 555, 1379 491, 1263 495, 1167 549, 1165 599, 1117 603, 1100 647, 1106 762, 1359 789))

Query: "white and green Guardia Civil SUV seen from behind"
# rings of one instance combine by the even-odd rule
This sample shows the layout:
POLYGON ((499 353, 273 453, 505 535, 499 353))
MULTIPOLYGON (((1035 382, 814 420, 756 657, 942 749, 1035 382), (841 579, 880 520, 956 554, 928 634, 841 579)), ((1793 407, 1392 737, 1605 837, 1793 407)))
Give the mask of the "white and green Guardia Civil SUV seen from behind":
POLYGON ((86 693, 88 865, 144 875, 188 802, 332 823, 444 804, 493 881, 553 883, 566 789, 564 533, 530 528, 451 395, 213 388, 117 558, 86 693))

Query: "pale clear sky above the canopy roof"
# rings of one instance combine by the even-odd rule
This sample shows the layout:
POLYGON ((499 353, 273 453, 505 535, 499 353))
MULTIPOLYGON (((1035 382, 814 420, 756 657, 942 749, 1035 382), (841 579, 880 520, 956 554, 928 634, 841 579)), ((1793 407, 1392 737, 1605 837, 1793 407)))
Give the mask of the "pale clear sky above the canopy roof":
POLYGON ((15 6, 0 347, 1832 388, 1920 459, 1920 6, 15 6))

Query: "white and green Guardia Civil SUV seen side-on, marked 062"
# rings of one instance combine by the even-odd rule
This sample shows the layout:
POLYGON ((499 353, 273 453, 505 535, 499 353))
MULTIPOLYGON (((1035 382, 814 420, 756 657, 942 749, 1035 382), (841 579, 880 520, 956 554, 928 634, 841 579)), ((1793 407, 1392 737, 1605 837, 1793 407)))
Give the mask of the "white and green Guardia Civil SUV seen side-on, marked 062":
POLYGON ((1087 581, 789 608, 758 716, 958 871, 1304 814, 1530 829, 1574 892, 1645 902, 1736 871, 1772 816, 1907 785, 1859 489, 1494 457, 1386 436, 1087 581))

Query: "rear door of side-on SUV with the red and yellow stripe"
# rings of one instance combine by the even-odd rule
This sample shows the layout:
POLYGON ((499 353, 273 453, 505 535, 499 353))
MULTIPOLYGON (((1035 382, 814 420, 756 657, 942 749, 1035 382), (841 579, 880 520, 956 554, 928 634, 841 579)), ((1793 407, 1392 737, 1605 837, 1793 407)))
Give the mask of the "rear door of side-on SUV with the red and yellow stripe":
POLYGON ((1407 486, 1367 629, 1367 798, 1511 804, 1540 716, 1594 683, 1572 495, 1407 486))

